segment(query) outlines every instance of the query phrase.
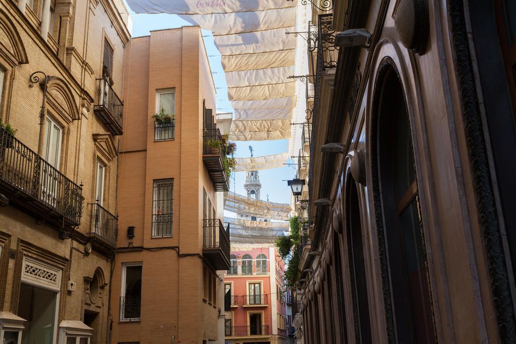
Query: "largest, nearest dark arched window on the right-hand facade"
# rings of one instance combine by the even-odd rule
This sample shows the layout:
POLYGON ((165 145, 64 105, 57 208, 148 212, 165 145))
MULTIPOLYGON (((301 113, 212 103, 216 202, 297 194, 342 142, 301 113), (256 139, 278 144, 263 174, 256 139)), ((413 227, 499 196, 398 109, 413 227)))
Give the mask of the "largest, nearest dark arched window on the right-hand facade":
POLYGON ((380 72, 383 86, 377 98, 376 147, 383 211, 380 227, 384 227, 387 244, 397 342, 434 343, 410 121, 397 72, 392 63, 385 63, 380 72))

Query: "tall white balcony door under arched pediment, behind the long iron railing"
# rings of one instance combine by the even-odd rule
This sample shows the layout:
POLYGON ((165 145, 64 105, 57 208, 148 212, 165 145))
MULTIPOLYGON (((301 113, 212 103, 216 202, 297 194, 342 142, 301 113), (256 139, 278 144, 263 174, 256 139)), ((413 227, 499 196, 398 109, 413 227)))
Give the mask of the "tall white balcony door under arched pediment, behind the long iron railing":
POLYGON ((43 141, 43 159, 41 162, 41 200, 56 206, 60 181, 59 161, 61 158, 62 127, 51 117, 45 119, 45 137, 43 141))

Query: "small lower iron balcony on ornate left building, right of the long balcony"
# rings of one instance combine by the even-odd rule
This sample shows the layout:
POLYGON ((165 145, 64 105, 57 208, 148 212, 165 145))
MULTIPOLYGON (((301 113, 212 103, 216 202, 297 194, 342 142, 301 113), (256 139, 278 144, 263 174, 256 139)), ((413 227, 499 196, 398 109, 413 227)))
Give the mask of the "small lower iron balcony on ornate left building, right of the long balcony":
POLYGON ((118 217, 103 208, 98 202, 91 205, 91 225, 87 235, 94 238, 101 248, 112 250, 117 245, 118 217))

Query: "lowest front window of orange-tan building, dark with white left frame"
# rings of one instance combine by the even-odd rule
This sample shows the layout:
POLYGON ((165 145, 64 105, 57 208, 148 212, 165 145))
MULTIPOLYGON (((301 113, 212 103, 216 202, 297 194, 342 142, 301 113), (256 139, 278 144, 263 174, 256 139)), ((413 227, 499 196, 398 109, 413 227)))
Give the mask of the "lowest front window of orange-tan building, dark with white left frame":
POLYGON ((122 266, 121 321, 139 321, 141 319, 141 279, 141 264, 124 264, 122 266))

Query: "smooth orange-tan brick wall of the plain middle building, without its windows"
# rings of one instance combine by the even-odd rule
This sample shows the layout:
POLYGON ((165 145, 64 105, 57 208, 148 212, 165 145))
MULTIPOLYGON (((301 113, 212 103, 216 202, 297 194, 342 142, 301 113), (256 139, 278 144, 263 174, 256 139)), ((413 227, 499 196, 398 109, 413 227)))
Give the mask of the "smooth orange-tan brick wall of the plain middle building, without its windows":
MULTIPOLYGON (((152 31, 125 52, 126 129, 121 139, 118 246, 136 227, 135 251, 117 254, 111 301, 119 304, 124 262, 142 262, 141 321, 118 322, 113 341, 202 343, 217 339, 217 307, 203 301, 202 189, 216 207, 202 161, 202 110, 215 109, 215 89, 198 27, 152 31), (154 142, 156 90, 175 88, 175 138, 154 142), (153 180, 174 178, 173 236, 152 238, 153 180), (142 248, 138 248, 143 246, 142 248), (172 249, 171 247, 174 247, 172 249), (149 251, 148 248, 161 248, 149 251), (194 254, 179 257, 181 254, 194 254), (119 287, 120 286, 120 287, 119 287)), ((215 113, 215 111, 214 111, 215 113)))

